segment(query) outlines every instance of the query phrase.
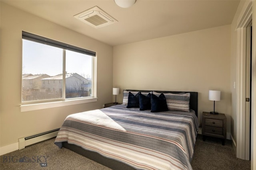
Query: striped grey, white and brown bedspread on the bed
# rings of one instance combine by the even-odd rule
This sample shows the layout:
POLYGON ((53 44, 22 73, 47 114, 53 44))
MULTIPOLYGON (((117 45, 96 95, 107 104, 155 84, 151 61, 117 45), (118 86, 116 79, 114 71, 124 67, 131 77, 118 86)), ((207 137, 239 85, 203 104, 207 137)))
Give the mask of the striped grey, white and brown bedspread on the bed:
POLYGON ((116 105, 66 117, 55 140, 142 170, 192 170, 198 131, 194 111, 152 113, 116 105))

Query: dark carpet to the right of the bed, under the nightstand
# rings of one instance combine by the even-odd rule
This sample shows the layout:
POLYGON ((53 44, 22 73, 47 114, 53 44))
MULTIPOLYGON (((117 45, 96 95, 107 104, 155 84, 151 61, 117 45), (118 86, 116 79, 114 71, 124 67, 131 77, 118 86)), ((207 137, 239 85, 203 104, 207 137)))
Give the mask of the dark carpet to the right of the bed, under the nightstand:
POLYGON ((251 161, 236 158, 232 141, 207 137, 202 140, 198 135, 194 148, 194 157, 191 162, 193 170, 250 170, 251 161))

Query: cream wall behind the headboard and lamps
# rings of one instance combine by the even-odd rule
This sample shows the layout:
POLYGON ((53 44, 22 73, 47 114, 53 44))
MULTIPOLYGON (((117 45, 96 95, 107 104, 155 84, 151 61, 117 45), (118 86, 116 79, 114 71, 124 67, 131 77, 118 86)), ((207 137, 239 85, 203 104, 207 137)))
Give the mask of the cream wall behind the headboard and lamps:
MULTIPOLYGON (((113 84, 123 89, 198 92, 198 118, 213 111, 208 90, 220 90, 215 110, 230 134, 230 25, 114 47, 113 84)), ((122 95, 117 96, 122 103, 122 95)))

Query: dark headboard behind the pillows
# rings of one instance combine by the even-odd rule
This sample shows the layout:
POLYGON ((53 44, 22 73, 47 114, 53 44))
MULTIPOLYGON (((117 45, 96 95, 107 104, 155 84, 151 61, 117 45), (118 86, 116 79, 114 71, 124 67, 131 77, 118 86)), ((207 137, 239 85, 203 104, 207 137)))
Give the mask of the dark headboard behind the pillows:
MULTIPOLYGON (((159 90, 128 90, 128 91, 139 91, 139 92, 158 92, 158 93, 182 93, 176 91, 159 91, 159 90)), ((196 112, 196 116, 198 116, 198 92, 186 92, 190 93, 190 109, 193 109, 196 112)))

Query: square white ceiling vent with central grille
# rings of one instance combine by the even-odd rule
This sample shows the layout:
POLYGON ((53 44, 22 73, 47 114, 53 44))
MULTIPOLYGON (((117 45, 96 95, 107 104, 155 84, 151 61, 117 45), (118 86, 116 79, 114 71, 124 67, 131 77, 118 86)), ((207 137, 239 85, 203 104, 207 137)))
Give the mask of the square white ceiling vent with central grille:
POLYGON ((76 14, 74 18, 77 18, 78 20, 83 21, 94 28, 100 28, 118 22, 106 12, 101 10, 98 6, 94 6, 89 10, 76 14))

